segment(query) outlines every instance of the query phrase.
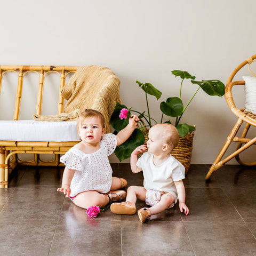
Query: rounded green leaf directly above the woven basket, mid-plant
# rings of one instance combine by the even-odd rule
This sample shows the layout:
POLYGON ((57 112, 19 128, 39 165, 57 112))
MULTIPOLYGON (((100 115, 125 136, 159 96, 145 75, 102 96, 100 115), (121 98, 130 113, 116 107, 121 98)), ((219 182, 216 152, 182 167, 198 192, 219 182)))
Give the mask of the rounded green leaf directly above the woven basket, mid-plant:
POLYGON ((161 102, 160 109, 166 116, 177 117, 182 114, 183 103, 178 97, 168 98, 166 102, 161 102))

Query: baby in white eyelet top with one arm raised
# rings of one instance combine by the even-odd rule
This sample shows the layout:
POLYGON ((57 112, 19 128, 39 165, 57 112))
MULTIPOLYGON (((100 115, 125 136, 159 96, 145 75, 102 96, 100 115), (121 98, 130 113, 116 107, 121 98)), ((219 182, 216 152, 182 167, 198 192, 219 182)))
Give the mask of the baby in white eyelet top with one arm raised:
POLYGON ((116 146, 130 137, 138 121, 139 118, 133 115, 129 118, 129 124, 117 135, 104 134, 103 115, 97 110, 85 110, 77 121, 81 142, 60 158, 66 167, 58 191, 85 209, 92 205, 104 207, 113 198, 117 199, 113 201, 125 199, 126 192, 117 189, 124 188, 127 182, 112 177, 108 156, 114 152, 116 146))

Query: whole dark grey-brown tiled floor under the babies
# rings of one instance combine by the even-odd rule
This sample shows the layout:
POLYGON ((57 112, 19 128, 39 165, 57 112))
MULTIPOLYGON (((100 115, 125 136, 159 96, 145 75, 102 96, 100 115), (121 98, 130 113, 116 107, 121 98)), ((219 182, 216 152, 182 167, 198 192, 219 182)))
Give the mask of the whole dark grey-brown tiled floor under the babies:
MULTIPOLYGON (((0 254, 256 255, 256 168, 226 165, 205 182, 208 169, 191 165, 184 180, 188 216, 175 206, 142 224, 137 214, 110 210, 87 217, 57 192, 62 168, 19 167, 10 187, 0 189, 0 254)), ((113 171, 142 185, 129 164, 113 164, 113 171)))

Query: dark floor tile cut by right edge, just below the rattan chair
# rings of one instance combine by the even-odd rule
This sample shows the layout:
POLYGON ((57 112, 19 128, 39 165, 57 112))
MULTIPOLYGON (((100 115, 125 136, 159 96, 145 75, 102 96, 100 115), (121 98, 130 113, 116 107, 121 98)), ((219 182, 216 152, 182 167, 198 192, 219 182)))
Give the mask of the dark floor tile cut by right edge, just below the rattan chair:
POLYGON ((256 220, 256 187, 226 188, 225 193, 245 222, 256 220))

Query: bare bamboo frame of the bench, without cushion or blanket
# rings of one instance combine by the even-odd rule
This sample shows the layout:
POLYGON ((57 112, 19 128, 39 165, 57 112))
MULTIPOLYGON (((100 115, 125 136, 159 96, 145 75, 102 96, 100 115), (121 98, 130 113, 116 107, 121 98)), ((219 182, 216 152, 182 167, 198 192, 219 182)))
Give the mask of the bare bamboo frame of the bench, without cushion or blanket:
MULTIPOLYGON (((63 113, 64 99, 61 97, 60 92, 66 83, 68 74, 73 74, 78 67, 75 66, 0 66, 0 94, 3 77, 7 73, 14 72, 17 74, 18 85, 17 94, 15 97, 15 107, 13 120, 18 121, 20 115, 20 106, 22 98, 22 86, 23 78, 30 72, 37 73, 39 81, 37 83, 37 102, 35 114, 42 114, 42 102, 44 91, 45 76, 49 73, 57 75, 59 80, 59 95, 58 97, 58 110, 57 114, 63 113)), ((70 75, 69 75, 70 76, 70 75)), ((69 77, 70 78, 70 77, 69 77)), ((5 109, 1 109, 4 111, 5 109)), ((31 117, 32 119, 32 117, 31 117)), ((65 154, 66 151, 73 147, 78 141, 17 141, 15 138, 8 141, 0 141, 0 188, 6 188, 8 185, 8 176, 14 167, 19 165, 48 165, 48 166, 60 166, 59 161, 60 154, 65 154), (34 160, 22 161, 19 159, 19 153, 32 153, 34 154, 34 160), (42 161, 39 154, 54 154, 55 159, 51 161, 42 161)))

